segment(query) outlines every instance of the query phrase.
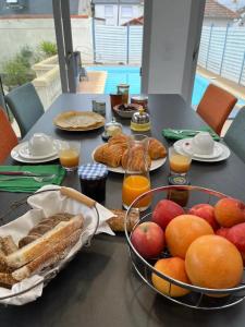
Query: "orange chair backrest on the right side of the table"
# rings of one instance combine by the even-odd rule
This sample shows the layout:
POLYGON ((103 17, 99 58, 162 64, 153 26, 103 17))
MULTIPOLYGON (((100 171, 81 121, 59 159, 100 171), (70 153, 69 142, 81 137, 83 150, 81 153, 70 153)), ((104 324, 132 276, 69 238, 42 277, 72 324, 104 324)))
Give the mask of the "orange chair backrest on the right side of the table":
POLYGON ((220 135, 222 126, 236 101, 237 98, 229 92, 209 84, 197 107, 197 113, 220 135))

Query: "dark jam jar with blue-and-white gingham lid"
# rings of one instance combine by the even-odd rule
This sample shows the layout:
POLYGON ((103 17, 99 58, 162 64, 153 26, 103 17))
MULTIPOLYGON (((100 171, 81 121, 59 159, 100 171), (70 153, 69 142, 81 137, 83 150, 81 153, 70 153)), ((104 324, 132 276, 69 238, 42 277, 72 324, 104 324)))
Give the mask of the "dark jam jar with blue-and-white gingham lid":
POLYGON ((82 193, 102 203, 106 199, 108 169, 101 164, 86 164, 78 168, 82 193))

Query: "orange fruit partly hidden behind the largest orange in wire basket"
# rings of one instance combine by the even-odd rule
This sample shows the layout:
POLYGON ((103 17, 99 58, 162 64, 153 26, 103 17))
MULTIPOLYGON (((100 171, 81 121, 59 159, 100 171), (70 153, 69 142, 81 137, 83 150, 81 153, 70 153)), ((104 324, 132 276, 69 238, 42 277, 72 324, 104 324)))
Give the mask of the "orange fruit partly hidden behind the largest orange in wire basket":
POLYGON ((213 234, 213 230, 205 219, 194 215, 181 215, 167 226, 166 242, 172 256, 185 258, 193 241, 207 234, 213 234))

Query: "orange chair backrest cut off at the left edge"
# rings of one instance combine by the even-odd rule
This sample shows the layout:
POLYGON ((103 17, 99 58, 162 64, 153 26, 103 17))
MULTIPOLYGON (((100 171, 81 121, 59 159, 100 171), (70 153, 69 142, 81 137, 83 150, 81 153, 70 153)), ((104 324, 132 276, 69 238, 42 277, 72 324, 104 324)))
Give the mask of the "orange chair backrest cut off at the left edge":
POLYGON ((0 107, 0 164, 5 160, 15 145, 17 145, 17 136, 4 110, 0 107))

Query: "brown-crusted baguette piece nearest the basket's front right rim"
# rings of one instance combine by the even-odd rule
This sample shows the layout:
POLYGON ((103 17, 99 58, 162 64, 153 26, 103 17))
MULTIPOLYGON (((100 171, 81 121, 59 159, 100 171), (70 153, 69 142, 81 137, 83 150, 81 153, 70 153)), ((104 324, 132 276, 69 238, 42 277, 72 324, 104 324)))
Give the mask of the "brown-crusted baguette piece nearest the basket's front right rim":
POLYGON ((46 267, 54 265, 63 257, 65 257, 70 250, 75 245, 81 235, 82 229, 76 230, 70 237, 62 239, 59 243, 54 244, 52 247, 46 250, 36 259, 29 262, 25 266, 19 268, 12 272, 13 279, 20 281, 34 274, 38 274, 46 267))

